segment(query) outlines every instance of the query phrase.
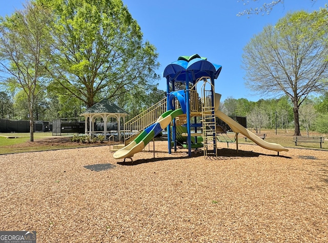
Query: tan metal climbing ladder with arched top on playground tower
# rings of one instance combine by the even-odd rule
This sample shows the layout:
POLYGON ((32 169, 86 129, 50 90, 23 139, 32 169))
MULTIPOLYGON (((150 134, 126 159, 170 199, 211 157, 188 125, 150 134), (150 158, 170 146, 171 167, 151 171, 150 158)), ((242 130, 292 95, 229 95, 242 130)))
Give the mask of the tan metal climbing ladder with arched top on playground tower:
POLYGON ((217 158, 214 86, 211 83, 210 77, 202 77, 201 79, 204 81, 201 86, 204 158, 208 156, 215 156, 217 158))

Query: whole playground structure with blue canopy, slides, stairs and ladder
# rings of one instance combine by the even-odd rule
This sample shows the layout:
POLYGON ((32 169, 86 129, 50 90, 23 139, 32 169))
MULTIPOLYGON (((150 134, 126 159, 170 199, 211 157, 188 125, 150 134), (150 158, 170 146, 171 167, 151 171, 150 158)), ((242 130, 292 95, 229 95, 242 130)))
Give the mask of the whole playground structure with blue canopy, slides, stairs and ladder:
POLYGON ((167 79, 166 101, 162 100, 160 106, 154 106, 144 115, 132 119, 131 126, 127 125, 125 129, 130 131, 135 130, 136 127, 141 129, 135 130, 135 135, 128 137, 126 146, 118 149, 113 155, 114 158, 131 158, 165 128, 168 131, 170 154, 172 149, 177 150, 178 126, 186 128, 186 132, 182 132, 181 135, 187 138, 185 147, 188 148, 189 156, 192 155, 192 149, 202 148, 204 157, 217 157, 217 142, 220 141, 218 136, 224 131, 217 126, 216 117, 227 123, 236 133, 237 150, 238 134, 241 133, 257 145, 277 151, 278 154, 280 151, 288 151, 281 145, 264 141, 219 111, 221 95, 215 93, 214 80, 219 76, 221 68, 220 65, 212 64, 207 58, 197 54, 180 56, 176 62, 169 64, 163 72, 163 76, 167 79), (186 88, 176 91, 176 83, 182 83, 186 88), (163 105, 166 105, 167 109, 159 116, 158 113, 163 110, 163 105), (159 118, 155 120, 154 117, 158 116, 159 118))

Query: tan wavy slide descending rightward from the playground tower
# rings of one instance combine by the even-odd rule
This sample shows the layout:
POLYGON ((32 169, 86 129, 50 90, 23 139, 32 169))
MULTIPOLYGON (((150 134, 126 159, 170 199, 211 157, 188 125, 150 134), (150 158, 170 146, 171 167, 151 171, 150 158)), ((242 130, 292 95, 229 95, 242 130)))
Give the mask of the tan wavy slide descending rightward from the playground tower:
POLYGON ((223 120, 223 122, 227 123, 234 132, 241 133, 242 135, 251 139, 252 141, 254 141, 255 144, 257 144, 258 146, 264 149, 274 150, 277 152, 288 151, 288 149, 282 147, 280 144, 268 143, 267 141, 264 141, 262 138, 256 136, 256 134, 252 133, 247 128, 241 126, 234 119, 230 118, 223 112, 219 111, 218 107, 220 104, 220 98, 221 98, 220 94, 215 94, 215 109, 216 109, 215 115, 219 117, 221 120, 223 120))

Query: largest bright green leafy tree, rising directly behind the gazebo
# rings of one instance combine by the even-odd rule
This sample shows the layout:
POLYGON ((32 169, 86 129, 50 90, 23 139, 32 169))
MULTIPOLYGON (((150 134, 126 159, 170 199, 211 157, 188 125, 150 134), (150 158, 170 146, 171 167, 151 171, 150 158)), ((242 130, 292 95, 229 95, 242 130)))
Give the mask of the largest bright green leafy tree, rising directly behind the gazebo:
POLYGON ((121 0, 36 0, 54 14, 53 88, 87 108, 152 84, 156 48, 143 42, 139 25, 121 0))

